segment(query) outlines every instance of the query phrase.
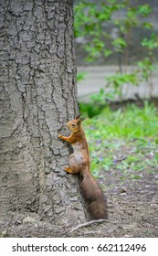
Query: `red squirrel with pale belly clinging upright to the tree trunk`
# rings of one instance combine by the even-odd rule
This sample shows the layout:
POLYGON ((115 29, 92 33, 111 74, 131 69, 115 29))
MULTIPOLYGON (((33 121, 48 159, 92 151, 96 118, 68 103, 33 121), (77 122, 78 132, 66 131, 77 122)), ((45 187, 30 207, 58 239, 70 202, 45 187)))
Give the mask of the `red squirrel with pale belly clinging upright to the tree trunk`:
POLYGON ((90 155, 85 133, 81 122, 83 118, 77 116, 69 121, 67 126, 72 132, 68 137, 58 135, 58 138, 72 144, 73 154, 69 155, 69 166, 64 170, 69 174, 81 176, 81 192, 88 205, 90 219, 107 219, 107 201, 97 180, 90 173, 90 155))

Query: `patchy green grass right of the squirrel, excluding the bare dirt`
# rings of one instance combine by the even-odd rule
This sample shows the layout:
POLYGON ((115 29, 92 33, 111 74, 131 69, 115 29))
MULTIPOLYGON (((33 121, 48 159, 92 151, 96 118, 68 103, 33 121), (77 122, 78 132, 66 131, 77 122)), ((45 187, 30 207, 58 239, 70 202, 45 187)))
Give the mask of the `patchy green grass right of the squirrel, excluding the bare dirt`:
POLYGON ((132 169, 132 178, 139 178, 139 172, 158 164, 158 112, 147 101, 142 108, 132 104, 112 111, 106 107, 97 116, 86 119, 83 127, 95 176, 100 175, 100 170, 117 168, 124 175, 132 169), (126 157, 120 161, 122 155, 126 157))

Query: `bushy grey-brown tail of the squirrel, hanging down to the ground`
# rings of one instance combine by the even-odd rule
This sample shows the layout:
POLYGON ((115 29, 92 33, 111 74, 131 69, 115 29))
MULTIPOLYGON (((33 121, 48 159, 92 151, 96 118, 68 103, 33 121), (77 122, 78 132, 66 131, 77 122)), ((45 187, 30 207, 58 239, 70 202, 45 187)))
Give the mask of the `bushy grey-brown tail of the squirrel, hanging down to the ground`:
POLYGON ((91 219, 107 219, 108 211, 106 198, 98 182, 90 172, 86 172, 86 174, 83 175, 81 191, 88 204, 91 219))

